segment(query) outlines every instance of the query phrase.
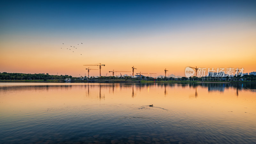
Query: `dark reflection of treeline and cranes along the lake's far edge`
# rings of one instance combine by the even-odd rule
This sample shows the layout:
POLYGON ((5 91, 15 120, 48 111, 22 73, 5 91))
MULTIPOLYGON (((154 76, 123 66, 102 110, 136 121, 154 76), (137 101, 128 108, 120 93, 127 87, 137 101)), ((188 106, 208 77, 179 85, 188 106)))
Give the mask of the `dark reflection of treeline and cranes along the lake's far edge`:
POLYGON ((56 85, 0 85, 0 90, 10 90, 12 92, 15 91, 23 91, 28 88, 33 89, 35 91, 41 90, 41 91, 49 91, 49 89, 56 88, 56 89, 61 89, 61 90, 71 90, 74 86, 84 86, 87 88, 87 95, 90 96, 90 89, 98 89, 99 91, 99 98, 105 98, 104 95, 105 93, 102 93, 101 89, 102 87, 106 88, 111 88, 112 93, 115 94, 115 92, 120 92, 123 91, 123 88, 129 89, 131 87, 131 93, 132 93, 132 98, 134 98, 135 91, 137 89, 139 92, 141 92, 145 87, 148 92, 150 92, 151 89, 155 88, 163 88, 164 89, 164 95, 168 95, 168 90, 170 89, 175 89, 178 87, 181 87, 182 89, 187 89, 192 88, 194 89, 195 93, 194 96, 198 97, 198 88, 207 88, 208 92, 225 92, 225 90, 230 89, 235 89, 236 90, 236 96, 239 95, 239 92, 242 90, 250 90, 252 92, 255 92, 256 89, 256 84, 255 83, 175 83, 175 84, 76 84, 73 85, 72 83, 68 83, 68 85, 61 85, 61 84, 56 84, 56 85), (116 91, 115 91, 116 89, 116 91), (136 89, 136 90, 135 90, 136 89))

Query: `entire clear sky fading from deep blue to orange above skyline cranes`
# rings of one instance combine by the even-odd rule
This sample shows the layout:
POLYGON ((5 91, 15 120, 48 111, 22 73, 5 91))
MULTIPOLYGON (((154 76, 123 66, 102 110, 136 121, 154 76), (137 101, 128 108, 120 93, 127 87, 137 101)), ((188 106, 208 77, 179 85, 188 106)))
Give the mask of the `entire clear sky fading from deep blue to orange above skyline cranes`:
POLYGON ((4 1, 0 19, 0 72, 256 71, 256 1, 4 1))

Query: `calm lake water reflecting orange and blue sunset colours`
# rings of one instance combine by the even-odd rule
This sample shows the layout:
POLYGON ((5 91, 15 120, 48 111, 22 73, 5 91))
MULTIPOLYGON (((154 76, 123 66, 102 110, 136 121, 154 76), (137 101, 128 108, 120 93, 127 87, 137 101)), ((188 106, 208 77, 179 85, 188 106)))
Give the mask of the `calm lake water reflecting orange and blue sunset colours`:
POLYGON ((0 143, 256 143, 255 135, 252 83, 0 83, 0 143))

